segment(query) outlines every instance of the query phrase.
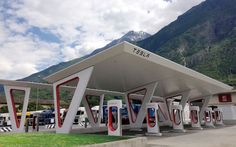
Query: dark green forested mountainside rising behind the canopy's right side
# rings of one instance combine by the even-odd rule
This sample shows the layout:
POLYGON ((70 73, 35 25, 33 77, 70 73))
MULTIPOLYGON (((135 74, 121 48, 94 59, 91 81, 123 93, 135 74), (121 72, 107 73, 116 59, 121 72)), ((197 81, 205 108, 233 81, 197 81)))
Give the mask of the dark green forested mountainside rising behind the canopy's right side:
POLYGON ((206 0, 136 44, 235 86, 236 1, 206 0))

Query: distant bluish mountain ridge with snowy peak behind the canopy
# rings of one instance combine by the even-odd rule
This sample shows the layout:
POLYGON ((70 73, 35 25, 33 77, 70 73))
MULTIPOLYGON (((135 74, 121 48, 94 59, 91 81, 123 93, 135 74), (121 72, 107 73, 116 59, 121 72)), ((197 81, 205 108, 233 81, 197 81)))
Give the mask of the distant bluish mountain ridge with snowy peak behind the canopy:
POLYGON ((23 79, 20 79, 20 80, 24 80, 24 81, 31 81, 31 82, 46 82, 43 80, 44 77, 47 77, 49 76, 50 74, 52 73, 55 73, 63 68, 66 68, 72 64, 75 64, 77 62, 80 62, 81 60, 83 59, 86 59, 92 55, 95 55, 105 49, 108 49, 109 47, 113 46, 113 45, 116 45, 120 42, 123 42, 123 41, 128 41, 128 42, 137 42, 137 41, 141 41, 143 39, 146 39, 148 37, 150 37, 151 35, 146 33, 146 32, 143 32, 143 31, 139 31, 139 32, 135 32, 135 31, 129 31, 128 33, 126 33, 124 36, 122 36, 121 38, 119 39, 116 39, 116 40, 113 40, 112 42, 110 42, 109 44, 107 44, 106 46, 104 46, 103 48, 99 48, 99 49, 96 49, 94 50, 91 54, 88 54, 84 57, 81 57, 81 58, 76 58, 76 59, 73 59, 73 60, 70 60, 68 62, 61 62, 57 65, 53 65, 53 66, 50 66, 49 68, 45 69, 45 70, 42 70, 38 73, 34 73, 28 77, 25 77, 23 79))

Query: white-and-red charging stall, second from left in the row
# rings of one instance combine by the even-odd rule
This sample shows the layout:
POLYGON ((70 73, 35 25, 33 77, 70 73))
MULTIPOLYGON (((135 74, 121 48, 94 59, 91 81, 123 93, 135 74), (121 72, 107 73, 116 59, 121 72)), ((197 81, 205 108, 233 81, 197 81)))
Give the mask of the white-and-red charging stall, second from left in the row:
POLYGON ((158 103, 147 103, 147 133, 146 135, 161 136, 158 117, 158 103))

